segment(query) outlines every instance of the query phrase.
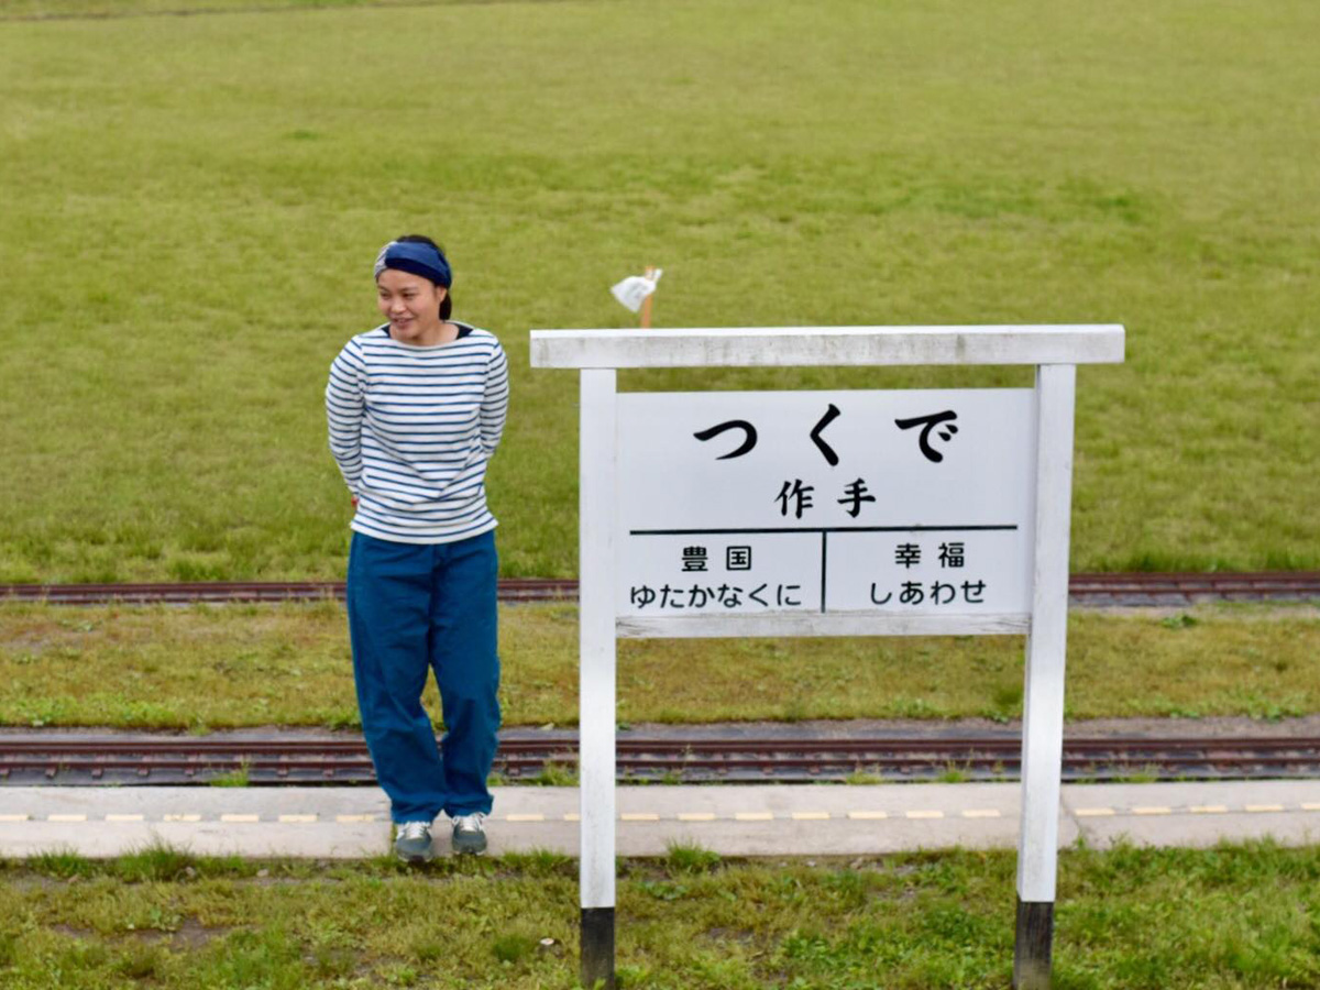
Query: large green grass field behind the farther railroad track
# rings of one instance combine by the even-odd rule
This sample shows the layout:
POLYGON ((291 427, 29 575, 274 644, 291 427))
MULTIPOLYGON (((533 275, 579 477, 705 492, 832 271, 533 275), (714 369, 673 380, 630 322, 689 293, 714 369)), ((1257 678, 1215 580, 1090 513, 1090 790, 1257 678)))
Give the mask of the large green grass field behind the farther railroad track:
POLYGON ((647 263, 661 326, 1122 322, 1074 569, 1320 566, 1316 4, 243 5, 0 8, 0 582, 342 573, 321 396, 407 230, 512 360, 506 574, 577 569, 527 330, 647 263), (161 8, 228 12, 21 20, 161 8))

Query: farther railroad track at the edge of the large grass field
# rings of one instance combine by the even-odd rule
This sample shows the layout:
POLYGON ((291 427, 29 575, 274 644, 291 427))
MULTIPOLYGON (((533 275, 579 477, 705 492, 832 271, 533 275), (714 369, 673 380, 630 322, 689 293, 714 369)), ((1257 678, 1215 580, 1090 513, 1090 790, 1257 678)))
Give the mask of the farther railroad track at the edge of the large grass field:
MULTIPOLYGON (((507 578, 502 602, 576 602, 570 578, 507 578)), ((1180 606, 1205 601, 1320 601, 1320 570, 1275 570, 1236 574, 1130 573, 1073 574, 1073 605, 1180 606)), ((51 605, 186 605, 191 602, 343 601, 342 581, 202 581, 164 585, 0 585, 0 602, 51 605)))

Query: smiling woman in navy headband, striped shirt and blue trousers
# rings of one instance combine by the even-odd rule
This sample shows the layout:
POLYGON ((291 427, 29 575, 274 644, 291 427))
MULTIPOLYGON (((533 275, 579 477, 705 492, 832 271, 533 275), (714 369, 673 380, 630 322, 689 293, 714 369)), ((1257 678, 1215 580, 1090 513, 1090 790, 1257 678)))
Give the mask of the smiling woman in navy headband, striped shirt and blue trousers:
POLYGON ((441 812, 455 853, 486 850, 500 709, 484 482, 504 429, 508 363, 492 334, 450 319, 453 275, 429 238, 385 244, 375 277, 388 322, 335 358, 326 416, 356 507, 348 632, 362 726, 399 828, 395 851, 422 862, 441 812), (440 685, 441 752, 421 705, 428 669, 440 685))

